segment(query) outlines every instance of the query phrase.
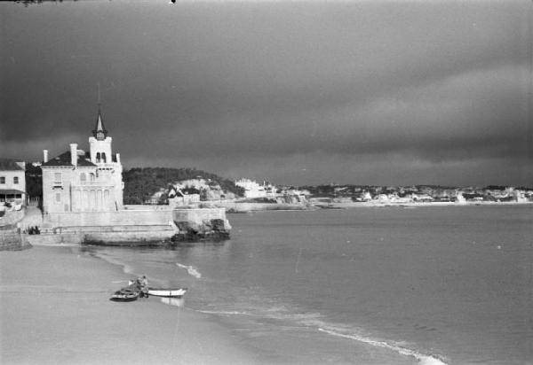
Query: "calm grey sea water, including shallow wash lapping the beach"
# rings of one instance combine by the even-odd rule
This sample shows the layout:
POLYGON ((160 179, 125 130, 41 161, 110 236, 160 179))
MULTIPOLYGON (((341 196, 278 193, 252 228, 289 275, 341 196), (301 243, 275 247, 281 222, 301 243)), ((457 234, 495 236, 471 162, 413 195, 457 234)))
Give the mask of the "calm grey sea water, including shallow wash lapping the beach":
MULTIPOLYGON (((264 362, 533 363, 533 206, 229 214, 232 239, 91 247, 264 362)), ((119 283, 117 283, 120 286, 119 283)))

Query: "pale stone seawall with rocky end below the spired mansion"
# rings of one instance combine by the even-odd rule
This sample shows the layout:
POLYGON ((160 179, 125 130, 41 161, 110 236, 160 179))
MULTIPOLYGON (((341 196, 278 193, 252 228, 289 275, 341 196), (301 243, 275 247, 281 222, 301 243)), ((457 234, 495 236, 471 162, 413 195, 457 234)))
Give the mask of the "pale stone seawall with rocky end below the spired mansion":
POLYGON ((225 239, 231 229, 226 212, 213 209, 129 207, 115 212, 44 214, 42 235, 46 245, 63 243, 116 244, 225 239), (67 241, 66 242, 66 239, 67 241))

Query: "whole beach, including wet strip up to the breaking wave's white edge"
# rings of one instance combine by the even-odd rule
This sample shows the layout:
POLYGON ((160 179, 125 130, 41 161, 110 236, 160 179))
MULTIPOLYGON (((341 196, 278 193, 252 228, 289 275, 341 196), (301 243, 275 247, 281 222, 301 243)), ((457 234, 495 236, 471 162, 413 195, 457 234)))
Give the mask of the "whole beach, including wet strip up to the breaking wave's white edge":
POLYGON ((79 245, 0 252, 0 265, 5 364, 413 363, 390 349, 311 329, 288 331, 261 318, 203 313, 153 296, 110 301, 138 268, 79 245))

